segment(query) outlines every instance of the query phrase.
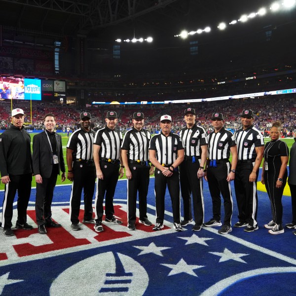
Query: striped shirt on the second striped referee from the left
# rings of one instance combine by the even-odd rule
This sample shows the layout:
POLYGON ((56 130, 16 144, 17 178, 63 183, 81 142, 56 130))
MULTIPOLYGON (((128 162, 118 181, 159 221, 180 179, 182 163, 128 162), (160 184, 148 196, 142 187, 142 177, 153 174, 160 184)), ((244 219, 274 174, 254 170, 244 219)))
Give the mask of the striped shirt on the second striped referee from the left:
POLYGON ((122 143, 122 133, 119 129, 111 130, 105 126, 99 129, 95 136, 95 145, 101 146, 99 156, 112 160, 119 159, 120 147, 122 143))

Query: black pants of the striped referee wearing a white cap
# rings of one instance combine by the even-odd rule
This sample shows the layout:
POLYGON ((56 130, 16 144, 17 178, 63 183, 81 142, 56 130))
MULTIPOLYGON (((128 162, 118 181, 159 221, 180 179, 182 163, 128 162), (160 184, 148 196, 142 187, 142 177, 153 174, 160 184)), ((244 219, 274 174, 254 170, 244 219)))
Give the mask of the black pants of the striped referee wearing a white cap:
POLYGON ((155 168, 155 204, 156 204, 156 223, 163 224, 164 220, 164 197, 166 187, 172 201, 173 220, 180 223, 180 183, 179 172, 174 171, 171 177, 165 177, 161 171, 155 168))

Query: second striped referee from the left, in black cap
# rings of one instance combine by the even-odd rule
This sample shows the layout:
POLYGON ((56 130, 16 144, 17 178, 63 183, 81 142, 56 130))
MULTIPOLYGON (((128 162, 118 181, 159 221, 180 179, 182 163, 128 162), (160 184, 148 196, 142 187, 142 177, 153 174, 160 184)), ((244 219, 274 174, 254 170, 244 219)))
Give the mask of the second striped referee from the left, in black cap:
POLYGON ((113 207, 113 196, 118 181, 118 175, 122 178, 124 174, 124 166, 120 166, 120 163, 122 164, 120 155, 122 133, 119 129, 115 128, 117 123, 117 113, 115 111, 108 111, 105 121, 106 126, 97 131, 94 141, 94 161, 97 174, 94 228, 97 232, 104 231, 102 226, 104 197, 105 221, 115 224, 122 223, 122 221, 114 217, 113 207))

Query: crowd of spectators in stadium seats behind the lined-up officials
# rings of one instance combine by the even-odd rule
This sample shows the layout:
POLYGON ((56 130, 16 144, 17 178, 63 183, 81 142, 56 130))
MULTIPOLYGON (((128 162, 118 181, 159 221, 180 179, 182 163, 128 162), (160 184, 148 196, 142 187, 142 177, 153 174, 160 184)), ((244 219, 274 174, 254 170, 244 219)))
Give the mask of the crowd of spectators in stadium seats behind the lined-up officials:
MULTIPOLYGON (((257 99, 245 100, 228 100, 216 102, 201 102, 188 104, 157 104, 157 105, 113 105, 113 106, 96 106, 88 108, 92 114, 92 122, 94 126, 104 126, 104 114, 108 110, 114 110, 118 114, 118 127, 123 131, 129 129, 132 123, 132 114, 136 111, 143 111, 145 114, 145 125, 151 132, 159 131, 159 118, 163 114, 169 114, 173 118, 172 128, 178 132, 184 126, 184 110, 188 106, 194 108, 197 113, 197 124, 205 127, 206 130, 211 130, 211 116, 214 112, 222 112, 225 117, 225 125, 232 130, 236 130, 240 126, 240 113, 243 109, 252 109, 255 114, 254 123, 261 131, 271 127, 271 123, 275 120, 280 120, 283 125, 283 135, 292 136, 296 129, 296 103, 295 97, 277 96, 273 98, 261 97, 257 99)), ((57 129, 64 129, 68 126, 75 129, 79 122, 79 113, 85 111, 81 107, 52 105, 45 103, 37 103, 32 107, 32 123, 31 123, 31 108, 28 102, 18 103, 17 106, 22 108, 25 113, 25 122, 27 126, 42 129, 43 116, 46 113, 53 113, 57 118, 57 129)), ((8 102, 0 104, 0 129, 5 129, 10 124, 11 106, 8 102)))

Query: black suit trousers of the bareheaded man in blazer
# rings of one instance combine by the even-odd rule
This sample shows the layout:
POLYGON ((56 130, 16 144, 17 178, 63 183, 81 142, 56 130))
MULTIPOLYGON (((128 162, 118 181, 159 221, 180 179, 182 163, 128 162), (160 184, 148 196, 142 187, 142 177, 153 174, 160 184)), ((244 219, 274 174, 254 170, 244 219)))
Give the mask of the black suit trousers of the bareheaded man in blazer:
POLYGON ((51 203, 57 177, 57 173, 53 172, 49 178, 42 178, 42 184, 36 184, 35 212, 38 225, 51 221, 51 203))

